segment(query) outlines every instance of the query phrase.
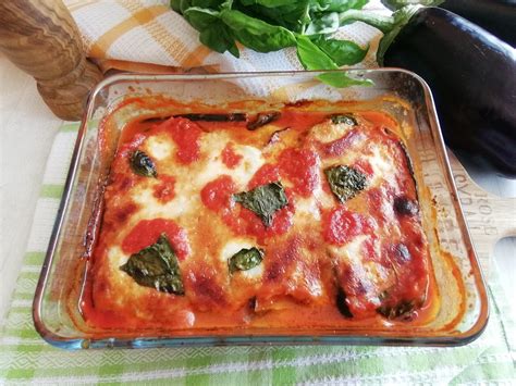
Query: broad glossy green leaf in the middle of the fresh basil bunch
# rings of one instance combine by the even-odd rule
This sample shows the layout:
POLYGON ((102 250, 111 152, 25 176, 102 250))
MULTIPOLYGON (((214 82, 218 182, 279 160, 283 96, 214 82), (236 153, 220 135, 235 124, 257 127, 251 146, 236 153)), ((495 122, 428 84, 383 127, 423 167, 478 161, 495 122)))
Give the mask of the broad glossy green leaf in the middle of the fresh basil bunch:
POLYGON ((296 45, 296 38, 288 29, 248 16, 243 12, 223 10, 221 18, 230 27, 236 40, 255 51, 278 51, 296 45))

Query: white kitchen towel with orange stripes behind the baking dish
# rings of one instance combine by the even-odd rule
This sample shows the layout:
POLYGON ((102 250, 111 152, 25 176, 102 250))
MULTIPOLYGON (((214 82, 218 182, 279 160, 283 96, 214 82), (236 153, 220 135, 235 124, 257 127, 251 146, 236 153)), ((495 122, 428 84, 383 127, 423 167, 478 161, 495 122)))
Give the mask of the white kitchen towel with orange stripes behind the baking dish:
MULTIPOLYGON (((259 53, 242 48, 241 58, 202 46, 198 33, 171 10, 168 0, 64 0, 78 25, 87 55, 106 72, 170 73, 204 69, 210 72, 257 72, 302 70, 294 49, 259 53)), ((365 8, 386 13, 380 0, 365 8)), ((371 45, 358 67, 374 67, 381 33, 363 23, 339 30, 340 39, 371 45)))

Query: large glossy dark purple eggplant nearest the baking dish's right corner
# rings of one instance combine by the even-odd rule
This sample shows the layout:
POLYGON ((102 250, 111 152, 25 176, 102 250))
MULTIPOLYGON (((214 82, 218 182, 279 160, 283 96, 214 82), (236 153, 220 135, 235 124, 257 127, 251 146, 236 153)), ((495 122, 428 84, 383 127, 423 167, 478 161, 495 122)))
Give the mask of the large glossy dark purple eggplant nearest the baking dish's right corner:
POLYGON ((440 8, 421 8, 391 35, 383 65, 429 85, 449 146, 516 178, 516 50, 440 8))

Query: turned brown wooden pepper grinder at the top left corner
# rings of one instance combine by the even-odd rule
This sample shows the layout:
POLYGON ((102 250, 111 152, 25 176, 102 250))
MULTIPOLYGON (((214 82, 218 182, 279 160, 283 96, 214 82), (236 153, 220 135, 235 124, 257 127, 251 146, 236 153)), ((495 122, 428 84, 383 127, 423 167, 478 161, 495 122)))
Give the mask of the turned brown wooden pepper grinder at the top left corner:
POLYGON ((86 60, 61 0, 0 1, 0 50, 35 77, 42 99, 62 120, 82 117, 88 92, 102 78, 86 60))

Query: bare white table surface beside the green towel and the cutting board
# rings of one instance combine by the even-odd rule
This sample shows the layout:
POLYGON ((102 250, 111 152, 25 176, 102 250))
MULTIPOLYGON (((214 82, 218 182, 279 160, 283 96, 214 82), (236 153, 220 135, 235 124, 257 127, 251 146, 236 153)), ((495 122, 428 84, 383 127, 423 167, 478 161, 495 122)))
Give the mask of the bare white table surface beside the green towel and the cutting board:
MULTIPOLYGON (((0 53, 0 326, 22 265, 46 161, 61 123, 41 101, 35 80, 0 53)), ((516 180, 478 173, 474 176, 491 192, 516 197, 516 180)), ((514 238, 496 245, 495 259, 507 294, 516 294, 514 238)))

